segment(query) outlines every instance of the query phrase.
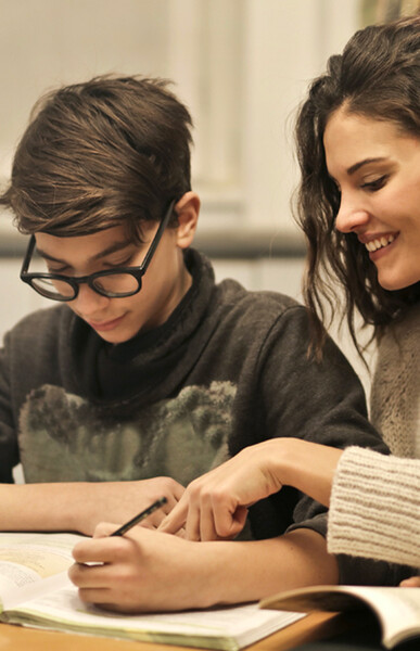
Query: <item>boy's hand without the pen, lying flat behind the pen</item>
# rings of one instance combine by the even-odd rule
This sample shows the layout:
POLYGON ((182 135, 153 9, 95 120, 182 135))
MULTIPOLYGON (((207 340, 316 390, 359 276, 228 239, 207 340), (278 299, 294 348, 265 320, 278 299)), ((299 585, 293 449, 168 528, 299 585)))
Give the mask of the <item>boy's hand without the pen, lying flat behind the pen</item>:
POLYGON ((161 497, 167 501, 144 520, 141 526, 156 528, 178 503, 184 487, 170 477, 153 477, 138 482, 103 482, 84 484, 84 501, 76 515, 74 531, 92 535, 103 521, 127 522, 161 497))

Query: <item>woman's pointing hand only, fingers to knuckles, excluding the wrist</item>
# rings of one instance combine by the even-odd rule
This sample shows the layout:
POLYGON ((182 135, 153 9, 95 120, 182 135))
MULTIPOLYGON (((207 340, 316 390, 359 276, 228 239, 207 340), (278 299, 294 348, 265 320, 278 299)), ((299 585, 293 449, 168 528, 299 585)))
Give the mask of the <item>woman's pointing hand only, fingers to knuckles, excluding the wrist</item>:
POLYGON ((234 538, 245 524, 247 508, 282 487, 270 470, 278 445, 276 439, 244 448, 191 482, 160 531, 176 534, 184 526, 189 540, 234 538))

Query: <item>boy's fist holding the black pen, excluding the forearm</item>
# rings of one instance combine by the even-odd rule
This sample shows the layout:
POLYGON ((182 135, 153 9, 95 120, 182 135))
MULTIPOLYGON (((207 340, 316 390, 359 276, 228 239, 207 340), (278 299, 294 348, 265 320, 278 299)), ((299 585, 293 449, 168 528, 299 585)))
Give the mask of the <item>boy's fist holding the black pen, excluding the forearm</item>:
POLYGON ((207 579, 204 546, 140 526, 110 537, 118 526, 102 523, 73 550, 68 576, 82 601, 127 613, 205 605, 202 582, 211 586, 212 570, 207 579))

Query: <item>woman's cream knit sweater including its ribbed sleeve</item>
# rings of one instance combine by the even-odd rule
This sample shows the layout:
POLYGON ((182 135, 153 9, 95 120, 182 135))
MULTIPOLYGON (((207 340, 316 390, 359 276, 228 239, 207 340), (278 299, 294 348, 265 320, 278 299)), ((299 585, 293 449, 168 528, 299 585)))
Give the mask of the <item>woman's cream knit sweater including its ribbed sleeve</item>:
POLYGON ((420 567, 420 305, 381 341, 371 419, 393 456, 351 447, 329 514, 332 553, 420 567))

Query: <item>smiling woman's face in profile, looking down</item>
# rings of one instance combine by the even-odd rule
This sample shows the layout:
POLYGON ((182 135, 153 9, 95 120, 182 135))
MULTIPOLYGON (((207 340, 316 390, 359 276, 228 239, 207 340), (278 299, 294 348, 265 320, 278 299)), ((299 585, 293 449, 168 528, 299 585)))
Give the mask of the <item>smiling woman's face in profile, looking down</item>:
POLYGON ((420 280, 420 140, 391 122, 335 111, 327 167, 341 192, 335 226, 355 233, 386 290, 420 280))

